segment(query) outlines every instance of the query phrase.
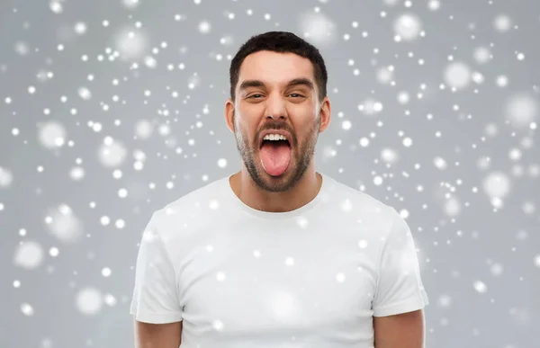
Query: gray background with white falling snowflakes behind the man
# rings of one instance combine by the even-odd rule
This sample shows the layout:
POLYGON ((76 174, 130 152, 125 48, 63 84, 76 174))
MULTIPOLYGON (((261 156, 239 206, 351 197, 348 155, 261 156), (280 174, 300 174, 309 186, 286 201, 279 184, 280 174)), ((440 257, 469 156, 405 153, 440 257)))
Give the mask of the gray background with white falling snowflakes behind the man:
POLYGON ((540 346, 540 3, 197 3, 0 2, 0 347, 133 346, 140 234, 239 169, 229 59, 272 30, 328 65, 317 169, 410 224, 428 346, 540 346))

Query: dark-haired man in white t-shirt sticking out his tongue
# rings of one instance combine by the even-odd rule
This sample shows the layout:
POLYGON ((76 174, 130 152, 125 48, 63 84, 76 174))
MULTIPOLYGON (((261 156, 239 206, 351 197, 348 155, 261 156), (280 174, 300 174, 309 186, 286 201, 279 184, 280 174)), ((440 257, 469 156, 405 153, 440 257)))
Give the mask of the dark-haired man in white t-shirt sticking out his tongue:
POLYGON ((315 171, 326 84, 319 50, 292 33, 239 49, 225 120, 241 170, 149 220, 130 308, 138 347, 423 347, 408 225, 315 171))

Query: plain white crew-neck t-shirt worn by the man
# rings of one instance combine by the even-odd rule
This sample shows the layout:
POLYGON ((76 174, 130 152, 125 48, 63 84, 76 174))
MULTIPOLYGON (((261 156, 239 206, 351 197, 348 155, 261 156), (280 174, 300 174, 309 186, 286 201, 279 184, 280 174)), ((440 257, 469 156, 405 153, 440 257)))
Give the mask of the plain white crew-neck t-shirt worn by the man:
POLYGON ((373 317, 428 305, 415 244, 392 207, 322 177, 293 211, 250 208, 229 176, 155 211, 130 314, 183 321, 182 348, 373 347, 373 317))

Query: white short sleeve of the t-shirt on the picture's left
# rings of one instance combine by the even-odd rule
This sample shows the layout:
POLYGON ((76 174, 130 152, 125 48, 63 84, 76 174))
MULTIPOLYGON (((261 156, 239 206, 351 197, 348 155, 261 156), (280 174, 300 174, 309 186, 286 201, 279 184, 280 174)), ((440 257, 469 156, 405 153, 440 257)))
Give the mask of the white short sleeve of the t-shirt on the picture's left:
POLYGON ((156 218, 155 212, 142 234, 130 314, 140 322, 174 323, 182 321, 175 269, 157 231, 156 218))

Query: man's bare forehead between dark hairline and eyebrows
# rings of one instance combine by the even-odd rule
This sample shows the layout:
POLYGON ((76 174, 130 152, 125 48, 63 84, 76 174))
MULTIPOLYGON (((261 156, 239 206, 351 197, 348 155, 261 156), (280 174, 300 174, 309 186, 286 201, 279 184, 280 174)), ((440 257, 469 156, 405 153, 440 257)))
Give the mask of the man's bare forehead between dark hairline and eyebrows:
POLYGON ((285 84, 299 76, 309 77, 313 84, 311 60, 293 53, 258 51, 247 56, 238 75, 238 85, 244 80, 262 80, 267 84, 285 84))

